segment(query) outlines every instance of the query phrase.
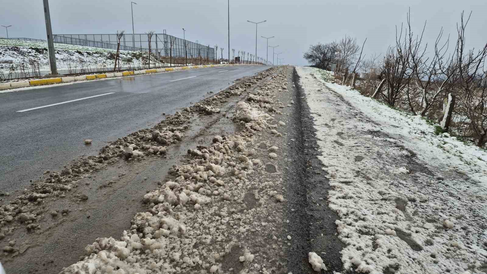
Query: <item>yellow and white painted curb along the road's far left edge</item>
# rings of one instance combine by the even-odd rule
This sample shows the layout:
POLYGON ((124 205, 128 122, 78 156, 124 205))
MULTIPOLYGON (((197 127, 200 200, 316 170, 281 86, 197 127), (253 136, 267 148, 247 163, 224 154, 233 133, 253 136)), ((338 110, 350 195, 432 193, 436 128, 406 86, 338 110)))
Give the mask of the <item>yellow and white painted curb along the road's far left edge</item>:
POLYGON ((68 76, 68 77, 60 77, 60 78, 45 78, 45 79, 36 79, 36 80, 29 80, 29 81, 0 83, 0 90, 24 88, 29 86, 50 85, 50 84, 57 84, 57 83, 69 83, 74 81, 95 80, 95 79, 103 79, 103 78, 126 77, 126 76, 140 75, 140 74, 162 73, 162 72, 187 70, 187 69, 199 69, 199 68, 221 67, 221 66, 241 66, 241 65, 248 65, 248 64, 216 64, 216 65, 184 66, 184 67, 145 69, 145 70, 136 70, 136 71, 92 74, 92 75, 68 76))

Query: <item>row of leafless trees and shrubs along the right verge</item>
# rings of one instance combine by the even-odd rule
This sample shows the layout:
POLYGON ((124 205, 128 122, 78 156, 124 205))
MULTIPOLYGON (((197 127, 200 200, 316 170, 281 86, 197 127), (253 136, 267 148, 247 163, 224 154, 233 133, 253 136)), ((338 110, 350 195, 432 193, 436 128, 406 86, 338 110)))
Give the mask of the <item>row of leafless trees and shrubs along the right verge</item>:
POLYGON ((413 115, 442 121, 444 131, 484 147, 487 43, 480 49, 466 48, 470 16, 462 12, 454 42, 441 29, 434 44, 429 45, 424 39, 426 22, 421 32, 413 33, 408 12, 407 23, 396 27, 395 43, 381 58, 362 58, 356 39, 347 36, 338 42, 310 46, 304 58, 323 69, 334 64, 335 77, 343 84, 353 86, 355 76, 361 72, 357 88, 362 94, 413 115), (451 123, 444 119, 447 117, 451 117, 451 123))

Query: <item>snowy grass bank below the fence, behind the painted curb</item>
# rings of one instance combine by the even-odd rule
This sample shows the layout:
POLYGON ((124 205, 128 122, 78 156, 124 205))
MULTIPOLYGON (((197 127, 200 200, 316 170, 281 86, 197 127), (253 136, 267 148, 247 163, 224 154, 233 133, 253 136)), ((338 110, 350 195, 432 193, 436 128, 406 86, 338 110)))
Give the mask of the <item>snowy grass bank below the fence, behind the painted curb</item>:
MULTIPOLYGON (((112 70, 116 50, 55 43, 59 73, 112 70)), ((151 66, 169 66, 155 58, 151 66)), ((148 68, 148 53, 120 51, 122 69, 148 68)), ((47 42, 0 39, 0 79, 35 77, 48 73, 47 42)))

